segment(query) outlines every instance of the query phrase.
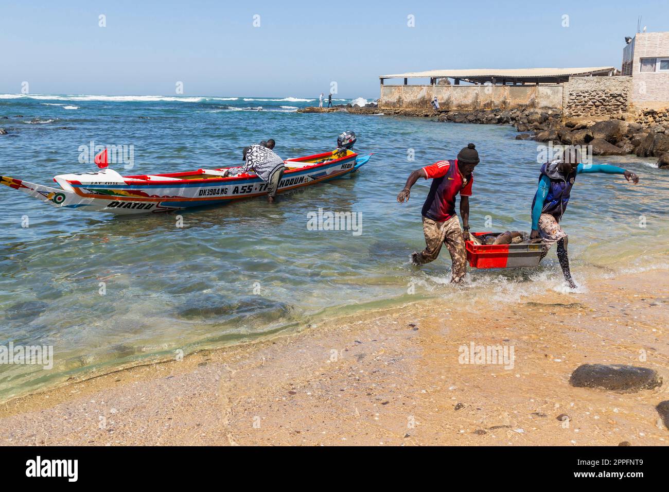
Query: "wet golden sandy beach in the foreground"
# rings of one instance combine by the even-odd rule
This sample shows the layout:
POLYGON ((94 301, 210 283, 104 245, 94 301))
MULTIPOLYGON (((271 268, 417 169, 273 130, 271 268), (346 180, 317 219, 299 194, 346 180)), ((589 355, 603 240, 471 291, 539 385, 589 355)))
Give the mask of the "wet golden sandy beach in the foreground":
POLYGON ((413 303, 70 382, 1 405, 0 444, 666 445, 667 274, 520 303, 413 303), (513 347, 512 369, 460 363, 472 342, 513 347), (572 388, 583 363, 651 367, 664 384, 572 388))

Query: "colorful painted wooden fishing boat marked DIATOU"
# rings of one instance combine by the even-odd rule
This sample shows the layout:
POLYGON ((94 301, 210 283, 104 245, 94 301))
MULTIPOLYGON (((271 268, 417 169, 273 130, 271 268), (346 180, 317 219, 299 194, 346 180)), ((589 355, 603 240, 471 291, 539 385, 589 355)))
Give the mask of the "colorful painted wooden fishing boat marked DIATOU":
MULTIPOLYGON (((351 149, 298 157, 285 161, 278 193, 343 177, 357 171, 371 155, 359 157, 351 149)), ((61 189, 0 176, 0 184, 50 203, 54 207, 145 214, 185 208, 223 205, 235 199, 267 194, 267 183, 255 173, 223 177, 227 167, 183 173, 122 176, 108 167, 98 172, 54 177, 61 189)))

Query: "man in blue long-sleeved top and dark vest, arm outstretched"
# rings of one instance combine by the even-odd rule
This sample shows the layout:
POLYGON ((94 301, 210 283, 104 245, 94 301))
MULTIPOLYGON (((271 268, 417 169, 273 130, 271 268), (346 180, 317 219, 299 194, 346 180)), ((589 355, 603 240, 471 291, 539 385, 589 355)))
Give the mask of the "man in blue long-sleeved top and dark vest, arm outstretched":
POLYGON ((610 164, 583 164, 581 153, 573 146, 563 151, 561 159, 547 162, 541 167, 539 189, 532 201, 532 233, 530 239, 541 238, 549 245, 557 242, 557 258, 560 262, 565 280, 576 289, 576 284, 569 272, 567 256, 567 234, 560 227, 560 220, 567 210, 571 187, 576 176, 585 173, 622 174, 628 181, 635 184, 639 177, 620 167, 610 164))

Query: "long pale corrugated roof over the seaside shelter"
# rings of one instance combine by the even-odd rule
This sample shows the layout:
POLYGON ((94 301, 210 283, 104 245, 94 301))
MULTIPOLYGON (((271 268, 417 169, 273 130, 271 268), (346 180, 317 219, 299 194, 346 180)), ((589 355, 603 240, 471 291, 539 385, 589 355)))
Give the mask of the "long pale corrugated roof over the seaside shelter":
POLYGON ((467 68, 464 70, 428 70, 427 72, 407 72, 406 74, 381 75, 379 78, 411 78, 411 77, 448 77, 448 78, 541 78, 561 77, 569 75, 589 75, 595 72, 609 72, 615 67, 585 68, 467 68))

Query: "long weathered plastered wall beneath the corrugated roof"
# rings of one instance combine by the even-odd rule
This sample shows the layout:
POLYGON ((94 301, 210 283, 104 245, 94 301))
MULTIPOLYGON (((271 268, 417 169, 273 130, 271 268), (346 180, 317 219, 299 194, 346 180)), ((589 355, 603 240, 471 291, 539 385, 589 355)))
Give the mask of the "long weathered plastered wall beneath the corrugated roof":
POLYGON ((431 109, 436 96, 440 108, 482 109, 561 108, 563 87, 555 86, 381 86, 381 109, 431 109))

